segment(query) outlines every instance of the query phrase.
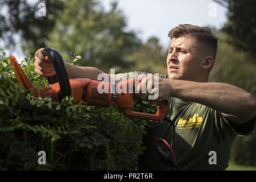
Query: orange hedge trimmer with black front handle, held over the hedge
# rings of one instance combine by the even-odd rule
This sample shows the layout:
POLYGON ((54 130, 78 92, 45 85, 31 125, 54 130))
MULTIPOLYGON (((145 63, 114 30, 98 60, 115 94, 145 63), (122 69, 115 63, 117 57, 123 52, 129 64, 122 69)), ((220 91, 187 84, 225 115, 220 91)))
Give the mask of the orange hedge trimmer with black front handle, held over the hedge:
MULTIPOLYGON (((97 88, 100 81, 90 80, 89 78, 73 78, 69 79, 67 72, 64 67, 63 58, 60 53, 53 48, 44 48, 43 54, 48 56, 53 63, 55 68, 56 75, 48 78, 50 86, 46 86, 44 88, 38 88, 31 84, 30 80, 28 80, 25 73, 22 71, 22 68, 16 61, 14 56, 10 56, 11 65, 13 65, 14 72, 16 77, 18 78, 18 82, 27 90, 31 90, 35 97, 51 97, 53 100, 61 101, 66 96, 71 96, 75 98, 76 104, 83 105, 92 105, 92 106, 114 106, 116 105, 118 108, 122 109, 127 115, 135 116, 135 117, 144 117, 157 121, 163 120, 164 116, 167 114, 170 103, 165 101, 158 102, 158 110, 155 114, 149 113, 141 113, 138 111, 131 110, 131 107, 134 106, 133 103, 133 93, 99 93, 97 88), (43 92, 39 91, 43 89, 43 92)), ((131 78, 121 83, 122 85, 135 85, 135 81, 137 78, 131 78)), ((112 86, 110 82, 108 83, 109 88, 107 90, 111 90, 112 86)))

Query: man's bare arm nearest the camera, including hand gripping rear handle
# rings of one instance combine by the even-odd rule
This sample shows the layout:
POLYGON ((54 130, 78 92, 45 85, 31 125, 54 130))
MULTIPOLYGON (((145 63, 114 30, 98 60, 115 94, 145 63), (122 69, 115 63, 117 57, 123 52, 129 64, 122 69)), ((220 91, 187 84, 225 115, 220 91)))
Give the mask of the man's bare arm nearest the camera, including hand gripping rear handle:
MULTIPOLYGON (((154 79, 147 77, 142 82, 146 80, 147 86, 152 88, 154 79)), ((141 85, 137 89, 141 90, 141 85)), ((225 118, 238 125, 249 121, 256 114, 255 97, 230 84, 159 78, 159 85, 153 90, 159 93, 157 100, 147 100, 147 94, 140 94, 139 97, 148 102, 164 100, 170 96, 197 102, 220 111, 225 118)))

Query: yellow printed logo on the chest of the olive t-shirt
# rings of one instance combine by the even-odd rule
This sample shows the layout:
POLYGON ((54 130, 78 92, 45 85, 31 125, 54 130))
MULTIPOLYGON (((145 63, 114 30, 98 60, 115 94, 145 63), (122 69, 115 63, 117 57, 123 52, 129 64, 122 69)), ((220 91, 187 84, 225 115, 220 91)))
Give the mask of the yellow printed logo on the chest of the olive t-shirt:
POLYGON ((179 118, 177 123, 177 129, 190 129, 192 127, 199 127, 203 121, 203 118, 199 114, 193 114, 192 118, 182 119, 179 118))

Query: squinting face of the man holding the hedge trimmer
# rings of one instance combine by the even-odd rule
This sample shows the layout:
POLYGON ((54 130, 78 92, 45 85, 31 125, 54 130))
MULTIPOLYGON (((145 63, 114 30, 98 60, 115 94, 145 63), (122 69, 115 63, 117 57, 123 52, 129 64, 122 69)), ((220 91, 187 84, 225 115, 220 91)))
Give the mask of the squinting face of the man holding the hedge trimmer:
POLYGON ((171 40, 167 56, 170 79, 198 81, 201 73, 201 57, 195 39, 181 36, 171 40))

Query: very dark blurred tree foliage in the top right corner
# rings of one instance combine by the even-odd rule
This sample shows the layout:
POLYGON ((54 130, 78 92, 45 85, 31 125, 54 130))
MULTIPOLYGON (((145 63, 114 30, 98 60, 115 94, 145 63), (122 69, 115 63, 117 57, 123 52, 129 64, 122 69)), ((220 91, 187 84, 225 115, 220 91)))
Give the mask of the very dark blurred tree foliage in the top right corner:
POLYGON ((223 30, 234 46, 249 52, 256 61, 256 1, 214 0, 228 8, 228 22, 223 30))

